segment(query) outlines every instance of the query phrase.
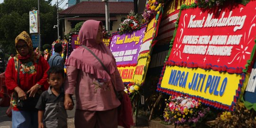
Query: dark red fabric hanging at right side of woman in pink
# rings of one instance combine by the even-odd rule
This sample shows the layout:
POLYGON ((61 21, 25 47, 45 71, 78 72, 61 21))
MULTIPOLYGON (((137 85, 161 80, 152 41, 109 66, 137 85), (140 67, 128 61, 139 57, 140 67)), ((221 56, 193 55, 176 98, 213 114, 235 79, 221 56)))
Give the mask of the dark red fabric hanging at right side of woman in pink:
POLYGON ((123 95, 121 109, 118 111, 118 125, 124 128, 133 126, 131 101, 127 94, 123 95))

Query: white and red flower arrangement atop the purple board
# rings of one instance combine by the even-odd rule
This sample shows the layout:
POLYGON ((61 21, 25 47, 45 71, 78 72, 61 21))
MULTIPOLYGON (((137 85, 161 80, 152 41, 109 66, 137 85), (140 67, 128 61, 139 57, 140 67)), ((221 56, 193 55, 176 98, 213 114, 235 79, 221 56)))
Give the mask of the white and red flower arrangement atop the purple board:
POLYGON ((119 35, 123 35, 125 33, 132 33, 135 30, 139 30, 141 25, 141 20, 138 14, 135 15, 134 11, 130 11, 127 19, 120 24, 119 27, 119 35))

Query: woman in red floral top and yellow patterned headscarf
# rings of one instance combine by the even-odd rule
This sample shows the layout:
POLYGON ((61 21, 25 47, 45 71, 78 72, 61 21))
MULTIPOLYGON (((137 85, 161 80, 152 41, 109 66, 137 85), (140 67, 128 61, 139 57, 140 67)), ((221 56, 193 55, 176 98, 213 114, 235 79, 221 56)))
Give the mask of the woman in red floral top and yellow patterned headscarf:
POLYGON ((33 51, 32 41, 27 32, 23 31, 16 37, 15 47, 18 55, 9 60, 5 71, 9 93, 17 92, 13 93, 11 98, 12 128, 37 128, 37 110, 19 110, 17 104, 19 100, 35 97, 37 92, 48 89, 46 71, 49 64, 33 51), (20 66, 17 72, 18 65, 20 66))

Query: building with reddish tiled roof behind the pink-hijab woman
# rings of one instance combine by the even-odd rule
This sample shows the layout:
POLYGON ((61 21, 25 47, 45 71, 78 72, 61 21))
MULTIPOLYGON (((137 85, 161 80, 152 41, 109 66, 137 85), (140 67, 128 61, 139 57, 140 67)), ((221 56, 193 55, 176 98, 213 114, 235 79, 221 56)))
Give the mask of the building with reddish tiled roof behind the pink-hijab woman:
MULTIPOLYGON (((133 10, 133 2, 109 2, 110 9, 110 33, 117 32, 123 19, 133 10)), ((103 1, 82 1, 59 13, 60 35, 67 35, 79 22, 89 19, 102 21, 106 24, 105 2, 103 1), (79 16, 79 17, 78 17, 79 16), (76 18, 72 18, 76 17, 76 18)))

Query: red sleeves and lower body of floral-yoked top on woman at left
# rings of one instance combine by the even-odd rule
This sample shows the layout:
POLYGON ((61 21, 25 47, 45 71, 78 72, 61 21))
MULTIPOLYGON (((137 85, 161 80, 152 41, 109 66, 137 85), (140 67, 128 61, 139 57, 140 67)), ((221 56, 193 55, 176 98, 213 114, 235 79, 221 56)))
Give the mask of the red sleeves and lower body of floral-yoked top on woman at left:
MULTIPOLYGON (((48 89, 49 84, 47 83, 47 70, 49 68, 49 64, 47 61, 40 56, 37 64, 37 73, 31 74, 31 73, 22 73, 20 72, 19 78, 20 78, 20 88, 23 91, 28 91, 32 86, 34 86, 36 83, 43 85, 42 91, 45 91, 48 89)), ((8 65, 6 67, 5 71, 5 82, 6 86, 9 90, 9 93, 14 91, 14 88, 18 86, 17 84, 17 71, 15 69, 14 64, 14 58, 11 58, 8 62, 8 65)))

